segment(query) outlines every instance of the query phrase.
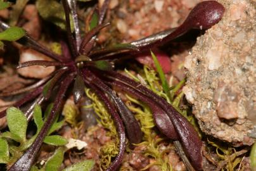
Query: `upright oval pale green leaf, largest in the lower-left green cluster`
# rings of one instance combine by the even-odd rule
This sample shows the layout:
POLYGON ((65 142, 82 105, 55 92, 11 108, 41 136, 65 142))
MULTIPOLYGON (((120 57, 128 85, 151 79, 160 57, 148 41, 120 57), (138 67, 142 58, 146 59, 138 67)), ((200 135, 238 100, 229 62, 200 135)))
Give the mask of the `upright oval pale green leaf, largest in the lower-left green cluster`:
POLYGON ((16 134, 25 141, 27 132, 27 118, 25 115, 15 107, 8 108, 6 113, 7 123, 11 133, 16 134))

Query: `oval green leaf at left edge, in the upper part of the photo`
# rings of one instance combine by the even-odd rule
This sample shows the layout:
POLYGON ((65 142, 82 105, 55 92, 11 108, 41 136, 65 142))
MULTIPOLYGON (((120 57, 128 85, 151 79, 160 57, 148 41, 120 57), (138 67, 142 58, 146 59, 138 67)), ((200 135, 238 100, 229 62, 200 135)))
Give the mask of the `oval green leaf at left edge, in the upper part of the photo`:
POLYGON ((10 27, 0 33, 0 40, 2 41, 16 41, 26 35, 25 30, 20 27, 10 27))

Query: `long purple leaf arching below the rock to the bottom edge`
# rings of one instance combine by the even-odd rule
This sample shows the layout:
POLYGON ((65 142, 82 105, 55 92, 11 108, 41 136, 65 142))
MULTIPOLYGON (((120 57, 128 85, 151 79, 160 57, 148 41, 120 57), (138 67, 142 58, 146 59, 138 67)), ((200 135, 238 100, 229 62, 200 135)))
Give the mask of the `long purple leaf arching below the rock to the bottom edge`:
POLYGON ((172 120, 172 124, 179 135, 179 140, 181 141, 186 155, 188 155, 189 159, 191 160, 191 164, 196 168, 196 170, 202 170, 203 144, 198 136, 198 133, 195 129, 193 129, 193 126, 188 122, 188 120, 182 117, 182 115, 179 114, 177 110, 175 110, 169 103, 167 103, 165 99, 158 96, 150 89, 147 89, 139 82, 135 82, 134 80, 129 79, 128 77, 125 77, 117 72, 110 71, 105 73, 108 73, 108 75, 111 75, 115 79, 119 79, 122 82, 125 82, 125 84, 138 89, 140 92, 143 92, 146 96, 155 101, 155 103, 157 103, 163 110, 165 110, 170 120, 172 120))

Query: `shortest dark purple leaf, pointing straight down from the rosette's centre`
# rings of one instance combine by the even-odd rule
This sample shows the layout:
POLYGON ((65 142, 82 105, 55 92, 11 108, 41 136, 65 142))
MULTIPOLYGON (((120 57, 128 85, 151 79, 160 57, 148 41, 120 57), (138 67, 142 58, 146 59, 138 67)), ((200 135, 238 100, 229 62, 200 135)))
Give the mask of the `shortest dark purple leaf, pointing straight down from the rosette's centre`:
POLYGON ((75 78, 75 84, 73 88, 73 96, 75 103, 78 103, 79 100, 84 95, 84 80, 80 74, 75 78))

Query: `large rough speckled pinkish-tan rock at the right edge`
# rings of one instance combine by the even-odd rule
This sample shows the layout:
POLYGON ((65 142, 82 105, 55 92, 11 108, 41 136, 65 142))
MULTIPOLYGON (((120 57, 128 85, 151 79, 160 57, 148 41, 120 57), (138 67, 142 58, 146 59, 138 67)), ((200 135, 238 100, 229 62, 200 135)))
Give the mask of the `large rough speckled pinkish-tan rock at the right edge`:
POLYGON ((203 132, 250 145, 256 131, 256 2, 218 2, 226 11, 186 57, 183 91, 203 132))

